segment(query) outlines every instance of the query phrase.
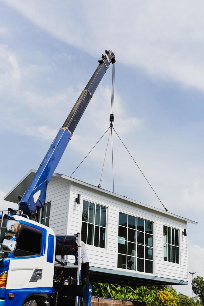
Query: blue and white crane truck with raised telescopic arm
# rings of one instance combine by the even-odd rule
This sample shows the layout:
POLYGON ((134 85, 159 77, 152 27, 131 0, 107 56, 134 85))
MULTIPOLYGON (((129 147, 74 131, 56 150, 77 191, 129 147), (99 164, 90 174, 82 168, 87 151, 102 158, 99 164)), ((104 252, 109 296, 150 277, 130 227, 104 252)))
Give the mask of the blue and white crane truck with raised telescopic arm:
POLYGON ((106 50, 30 185, 19 197, 18 210, 9 208, 0 215, 0 306, 79 305, 79 297, 84 306, 91 305, 92 287, 80 285, 81 235, 56 236, 38 222, 38 211, 45 205, 47 184, 110 64, 115 64, 115 55, 106 50), (78 265, 63 265, 64 255, 73 255, 76 249, 78 265), (60 264, 56 264, 56 255, 61 255, 60 264), (74 275, 75 285, 70 275, 74 275))

